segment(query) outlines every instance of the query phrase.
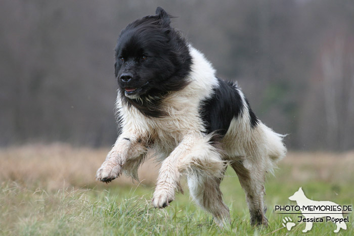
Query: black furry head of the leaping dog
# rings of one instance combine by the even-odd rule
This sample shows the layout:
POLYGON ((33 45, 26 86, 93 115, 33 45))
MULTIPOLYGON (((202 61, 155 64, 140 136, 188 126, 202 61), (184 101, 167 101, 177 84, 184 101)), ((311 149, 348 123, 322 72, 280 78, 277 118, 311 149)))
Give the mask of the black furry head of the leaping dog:
POLYGON ((170 16, 160 7, 156 15, 127 25, 118 37, 115 76, 121 96, 133 105, 183 89, 191 63, 186 40, 170 26, 170 16))

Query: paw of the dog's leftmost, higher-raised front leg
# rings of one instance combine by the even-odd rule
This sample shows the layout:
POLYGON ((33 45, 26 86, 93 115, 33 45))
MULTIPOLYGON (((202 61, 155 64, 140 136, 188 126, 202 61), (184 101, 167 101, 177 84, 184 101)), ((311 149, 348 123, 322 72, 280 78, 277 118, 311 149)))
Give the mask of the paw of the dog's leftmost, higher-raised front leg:
POLYGON ((121 165, 119 165, 117 162, 107 160, 97 170, 96 179, 108 183, 113 179, 119 177, 121 169, 121 165))

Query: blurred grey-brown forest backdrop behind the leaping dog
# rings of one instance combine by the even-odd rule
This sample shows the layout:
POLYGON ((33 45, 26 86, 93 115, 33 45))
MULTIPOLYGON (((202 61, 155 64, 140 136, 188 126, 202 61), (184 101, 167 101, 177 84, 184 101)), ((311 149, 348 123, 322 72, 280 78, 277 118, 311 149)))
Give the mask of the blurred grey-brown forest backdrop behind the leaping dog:
POLYGON ((293 150, 354 148, 354 1, 5 0, 0 146, 110 146, 113 49, 157 6, 293 150))

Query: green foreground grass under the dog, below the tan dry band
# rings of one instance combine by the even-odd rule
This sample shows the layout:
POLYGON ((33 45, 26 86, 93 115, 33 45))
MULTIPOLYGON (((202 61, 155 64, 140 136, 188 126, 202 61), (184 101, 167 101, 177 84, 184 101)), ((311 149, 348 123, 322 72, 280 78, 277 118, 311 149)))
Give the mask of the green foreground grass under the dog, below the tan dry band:
MULTIPOLYGON (((185 195, 176 195, 166 209, 151 206, 153 187, 98 184, 78 190, 31 189, 16 181, 3 181, 0 189, 0 234, 3 235, 300 235, 305 223, 296 222, 291 231, 282 228, 282 219, 298 215, 274 212, 275 205, 294 204, 287 198, 302 186, 308 198, 352 205, 352 180, 331 182, 319 179, 291 179, 283 166, 267 181, 268 228, 251 227, 249 213, 235 173, 227 171, 222 183, 224 200, 230 207, 231 225, 220 229, 210 214, 197 208, 185 195)), ((114 180, 114 181, 119 181, 114 180)), ((354 235, 353 215, 347 230, 337 235, 354 235)), ((335 224, 314 223, 307 235, 334 235, 335 224)))

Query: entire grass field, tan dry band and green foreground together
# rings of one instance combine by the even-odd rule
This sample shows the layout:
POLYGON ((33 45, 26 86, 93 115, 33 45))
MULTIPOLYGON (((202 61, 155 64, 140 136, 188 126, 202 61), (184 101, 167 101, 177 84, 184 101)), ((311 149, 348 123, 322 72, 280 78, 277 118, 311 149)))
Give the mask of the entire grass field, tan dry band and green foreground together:
MULTIPOLYGON (((158 166, 149 162, 140 170, 140 183, 127 178, 106 185, 95 173, 108 149, 67 145, 32 145, 0 150, 0 234, 2 235, 300 235, 305 223, 297 214, 276 214, 275 205, 295 205, 288 197, 302 186, 313 200, 340 205, 354 202, 354 153, 289 153, 275 176, 268 176, 268 228, 254 228, 236 174, 228 168, 222 183, 232 223, 218 228, 209 214, 185 194, 163 210, 150 201, 158 166), (296 225, 282 226, 289 216, 296 225)), ((354 235, 353 214, 347 230, 354 235)), ((314 223, 307 235, 334 235, 335 224, 314 223)))

